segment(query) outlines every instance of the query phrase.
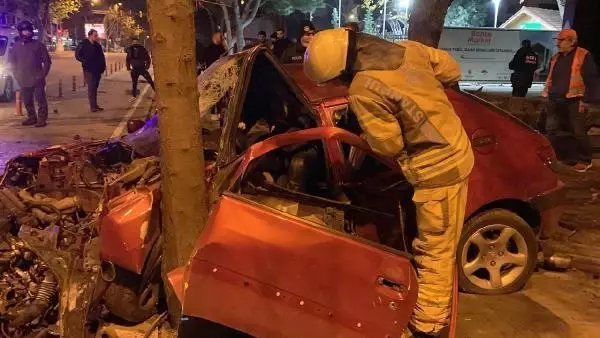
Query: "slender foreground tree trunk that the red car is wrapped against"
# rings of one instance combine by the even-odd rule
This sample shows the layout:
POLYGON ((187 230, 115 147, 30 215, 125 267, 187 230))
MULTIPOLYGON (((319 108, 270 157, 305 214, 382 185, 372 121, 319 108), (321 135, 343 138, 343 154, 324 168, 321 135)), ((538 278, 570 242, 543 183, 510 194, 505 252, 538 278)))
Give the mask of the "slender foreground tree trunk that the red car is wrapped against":
POLYGON ((208 216, 196 87, 194 3, 148 0, 148 18, 160 116, 162 277, 169 315, 177 328, 181 304, 166 274, 187 263, 208 216))

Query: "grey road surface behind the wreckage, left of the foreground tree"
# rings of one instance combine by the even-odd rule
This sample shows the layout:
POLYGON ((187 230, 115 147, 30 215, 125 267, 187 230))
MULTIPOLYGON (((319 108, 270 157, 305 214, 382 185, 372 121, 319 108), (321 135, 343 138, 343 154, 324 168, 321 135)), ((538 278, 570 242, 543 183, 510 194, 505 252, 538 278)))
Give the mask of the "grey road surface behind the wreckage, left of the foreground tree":
MULTIPOLYGON (((78 88, 62 100, 49 97, 48 126, 21 126, 22 117, 14 116, 14 106, 0 108, 0 172, 10 158, 41 147, 80 140, 101 140, 126 131, 128 118, 143 118, 150 109, 154 93, 145 83, 142 94, 130 102, 131 77, 121 71, 100 82, 98 104, 103 112, 90 112, 87 88, 78 88), (148 89, 146 89, 148 88, 148 89)), ((25 113, 25 112, 24 112, 25 113)))

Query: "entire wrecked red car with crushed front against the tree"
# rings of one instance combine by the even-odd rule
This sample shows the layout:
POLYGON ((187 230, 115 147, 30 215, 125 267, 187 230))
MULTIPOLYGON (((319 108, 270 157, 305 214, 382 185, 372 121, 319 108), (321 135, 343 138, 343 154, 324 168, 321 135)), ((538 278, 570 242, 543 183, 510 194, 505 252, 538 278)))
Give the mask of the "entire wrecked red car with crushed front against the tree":
MULTIPOLYGON (((180 335, 400 336, 418 289, 412 190, 359 137, 345 87, 312 85, 255 48, 219 60, 198 88, 212 209, 189 264, 169 273, 180 335)), ((535 267, 536 235, 561 215, 554 152, 497 108, 448 96, 476 154, 460 287, 516 291, 535 267)), ((122 139, 8 163, 7 334, 110 337, 107 323, 163 309, 158 136, 155 116, 122 139)))

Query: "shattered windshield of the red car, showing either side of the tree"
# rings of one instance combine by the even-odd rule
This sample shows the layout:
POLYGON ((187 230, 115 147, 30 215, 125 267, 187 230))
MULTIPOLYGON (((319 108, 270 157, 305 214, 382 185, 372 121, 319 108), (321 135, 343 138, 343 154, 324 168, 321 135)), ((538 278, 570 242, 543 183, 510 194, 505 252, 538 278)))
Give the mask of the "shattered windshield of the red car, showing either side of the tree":
MULTIPOLYGON (((221 58, 198 76, 198 106, 205 149, 218 150, 221 128, 239 82, 243 60, 243 55, 221 58)), ((153 116, 142 129, 123 137, 122 141, 139 155, 157 156, 158 117, 153 116)))

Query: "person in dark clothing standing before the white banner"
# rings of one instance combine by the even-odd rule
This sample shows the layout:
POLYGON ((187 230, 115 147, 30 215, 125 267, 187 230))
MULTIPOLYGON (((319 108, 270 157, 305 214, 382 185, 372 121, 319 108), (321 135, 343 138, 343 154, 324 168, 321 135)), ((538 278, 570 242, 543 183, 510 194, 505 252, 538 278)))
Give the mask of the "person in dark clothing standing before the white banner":
POLYGON ((525 97, 531 88, 533 74, 538 69, 538 55, 531 48, 531 41, 523 40, 521 48, 515 53, 508 68, 514 71, 510 76, 513 87, 513 96, 525 97))

